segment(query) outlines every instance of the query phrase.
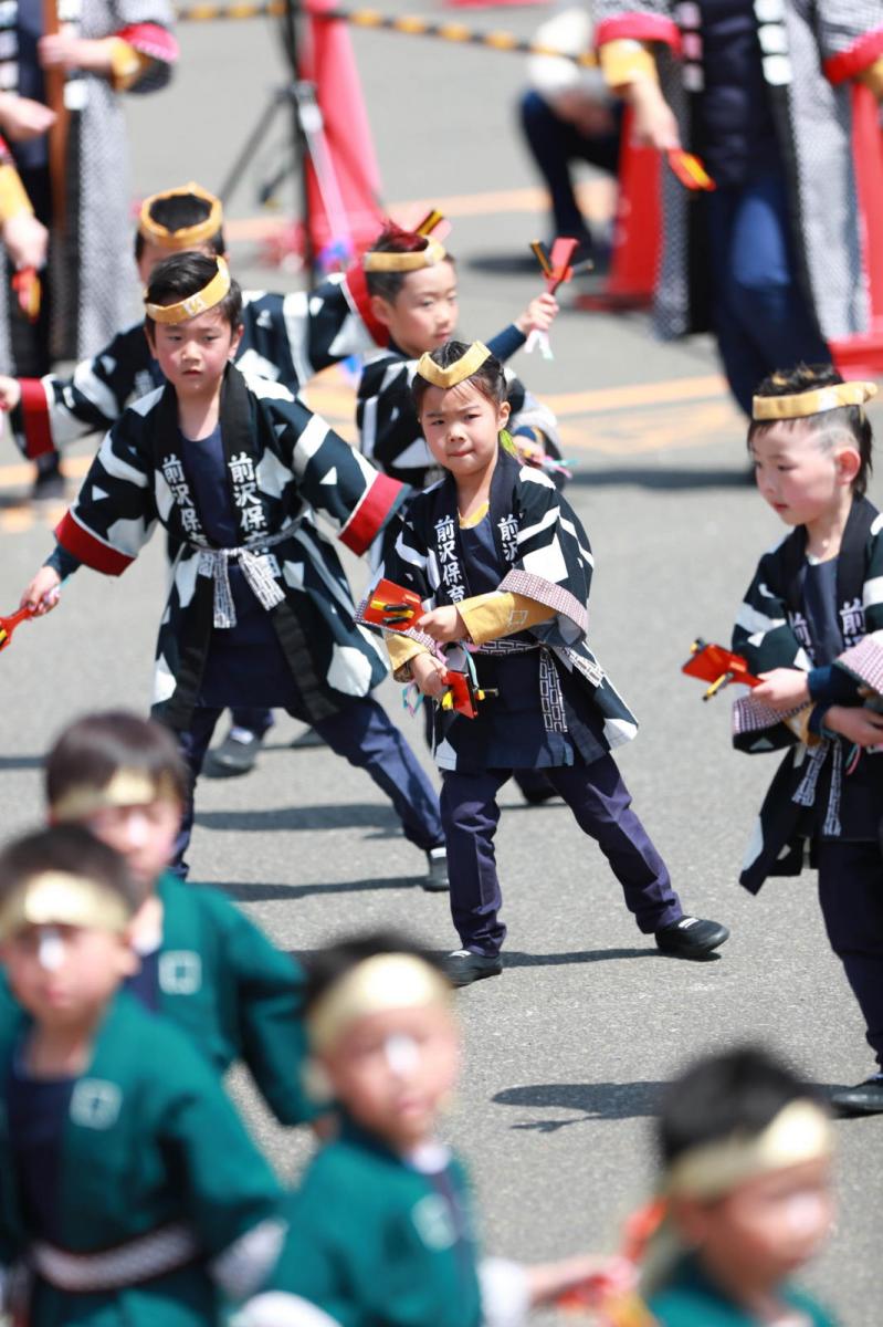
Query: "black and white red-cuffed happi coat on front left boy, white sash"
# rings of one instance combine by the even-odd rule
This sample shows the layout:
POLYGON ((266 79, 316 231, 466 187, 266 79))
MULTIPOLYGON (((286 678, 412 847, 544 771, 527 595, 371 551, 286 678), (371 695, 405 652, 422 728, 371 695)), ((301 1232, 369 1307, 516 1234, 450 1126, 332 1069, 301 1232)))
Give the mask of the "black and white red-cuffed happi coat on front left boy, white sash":
MULTIPOLYGON (((119 576, 159 522, 178 547, 159 628, 154 714, 188 726, 224 602, 200 511, 179 450, 171 386, 131 406, 106 435, 80 496, 56 531, 76 559, 119 576), (213 575, 212 575, 213 572, 213 575)), ((377 640, 354 622, 339 559, 321 533, 321 512, 341 543, 363 553, 406 490, 284 387, 232 365, 221 394, 220 429, 240 548, 248 547, 278 602, 272 624, 316 722, 363 697, 386 675, 377 640), (273 589, 274 587, 274 589, 273 589)), ((241 565, 241 561, 240 561, 241 565)), ((263 697, 243 697, 260 705, 263 697)))

